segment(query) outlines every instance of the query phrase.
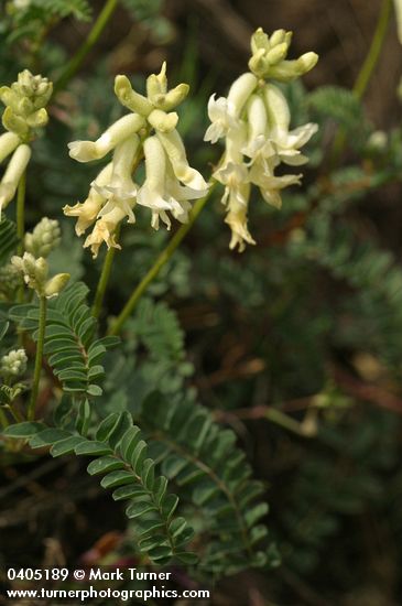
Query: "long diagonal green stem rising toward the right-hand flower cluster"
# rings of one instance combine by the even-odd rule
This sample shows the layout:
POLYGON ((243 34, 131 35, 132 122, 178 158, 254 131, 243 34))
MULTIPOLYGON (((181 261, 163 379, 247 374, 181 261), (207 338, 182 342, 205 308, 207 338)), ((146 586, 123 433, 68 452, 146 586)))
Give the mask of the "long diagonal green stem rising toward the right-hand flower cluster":
POLYGON ((173 236, 173 238, 167 244, 166 248, 162 250, 161 255, 156 258, 155 262, 153 263, 152 268, 148 271, 148 273, 144 275, 144 278, 141 280, 141 282, 138 284, 138 286, 133 290, 130 299, 126 303, 124 307, 118 315, 117 320, 113 322, 113 324, 110 327, 109 334, 110 335, 118 335, 122 328, 122 325, 127 321, 127 318, 131 315, 133 309, 135 307, 137 303, 148 289, 148 286, 153 282, 153 280, 156 278, 163 266, 167 263, 176 248, 180 246, 184 237, 187 235, 187 232, 193 227, 194 223, 196 221, 199 213, 203 210, 204 206, 206 205, 211 192, 214 190, 214 184, 209 187, 209 191, 206 196, 203 198, 197 199, 195 205, 193 206, 193 209, 189 215, 188 223, 182 225, 182 227, 176 231, 176 234, 173 236))

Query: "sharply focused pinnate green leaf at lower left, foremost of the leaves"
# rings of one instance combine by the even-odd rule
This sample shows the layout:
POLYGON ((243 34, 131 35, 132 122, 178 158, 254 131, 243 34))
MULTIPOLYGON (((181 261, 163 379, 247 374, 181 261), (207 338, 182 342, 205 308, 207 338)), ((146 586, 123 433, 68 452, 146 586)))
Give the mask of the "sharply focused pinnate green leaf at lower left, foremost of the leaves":
POLYGON ((115 500, 128 501, 126 515, 132 521, 140 553, 161 565, 172 559, 186 564, 197 561, 194 553, 185 551, 193 530, 184 518, 175 516, 178 497, 167 493, 166 477, 155 473, 155 462, 129 413, 104 419, 93 439, 42 423, 12 425, 3 433, 29 439, 32 448, 50 447, 54 457, 73 453, 95 457, 87 472, 102 476, 100 485, 112 490, 115 500))

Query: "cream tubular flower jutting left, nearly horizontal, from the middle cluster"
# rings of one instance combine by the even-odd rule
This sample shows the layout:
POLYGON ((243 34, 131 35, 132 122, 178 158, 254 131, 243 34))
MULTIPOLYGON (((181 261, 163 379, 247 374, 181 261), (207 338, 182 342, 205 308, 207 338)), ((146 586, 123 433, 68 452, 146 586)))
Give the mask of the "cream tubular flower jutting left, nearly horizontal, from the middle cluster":
POLYGON ((78 162, 90 162, 104 158, 119 143, 138 132, 145 120, 138 113, 128 113, 109 127, 96 141, 72 141, 69 155, 78 162))

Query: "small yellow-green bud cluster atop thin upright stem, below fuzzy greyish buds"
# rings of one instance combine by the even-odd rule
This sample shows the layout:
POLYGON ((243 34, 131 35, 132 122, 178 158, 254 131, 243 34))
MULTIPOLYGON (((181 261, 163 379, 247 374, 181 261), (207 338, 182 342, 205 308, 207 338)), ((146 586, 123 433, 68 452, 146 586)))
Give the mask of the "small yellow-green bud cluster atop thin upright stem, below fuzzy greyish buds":
POLYGON ((48 279, 46 259, 43 257, 35 259, 31 252, 24 252, 23 257, 12 257, 11 263, 22 274, 28 288, 34 290, 40 297, 51 299, 57 296, 69 280, 69 273, 57 273, 48 279))

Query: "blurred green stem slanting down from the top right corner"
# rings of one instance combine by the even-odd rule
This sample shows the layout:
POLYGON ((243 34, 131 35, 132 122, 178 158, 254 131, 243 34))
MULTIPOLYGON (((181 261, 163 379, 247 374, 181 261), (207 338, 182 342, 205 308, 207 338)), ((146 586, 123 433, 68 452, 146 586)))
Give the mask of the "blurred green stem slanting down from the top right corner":
MULTIPOLYGON (((360 68, 360 72, 356 78, 352 91, 357 99, 361 99, 365 95, 367 87, 369 85, 370 78, 376 69, 378 59, 380 58, 381 50, 385 40, 385 34, 388 31, 388 24, 391 17, 392 0, 383 0, 380 14, 377 22, 377 28, 373 33, 369 52, 367 53, 366 59, 360 68)), ((346 132, 344 129, 338 130, 334 145, 332 150, 332 166, 338 164, 341 152, 344 151, 346 143, 346 132)))

